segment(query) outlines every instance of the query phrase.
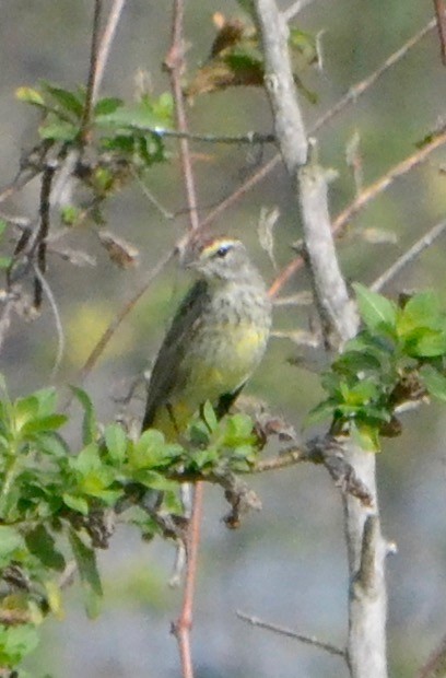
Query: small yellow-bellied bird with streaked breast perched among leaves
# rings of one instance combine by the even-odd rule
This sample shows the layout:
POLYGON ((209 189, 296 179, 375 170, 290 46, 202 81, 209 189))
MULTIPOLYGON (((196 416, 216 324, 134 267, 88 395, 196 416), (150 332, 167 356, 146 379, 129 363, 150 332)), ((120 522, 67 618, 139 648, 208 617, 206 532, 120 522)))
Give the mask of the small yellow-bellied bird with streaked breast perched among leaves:
POLYGON ((142 430, 177 440, 207 400, 223 416, 263 355, 271 302, 237 239, 191 247, 197 281, 179 305, 157 354, 142 430))

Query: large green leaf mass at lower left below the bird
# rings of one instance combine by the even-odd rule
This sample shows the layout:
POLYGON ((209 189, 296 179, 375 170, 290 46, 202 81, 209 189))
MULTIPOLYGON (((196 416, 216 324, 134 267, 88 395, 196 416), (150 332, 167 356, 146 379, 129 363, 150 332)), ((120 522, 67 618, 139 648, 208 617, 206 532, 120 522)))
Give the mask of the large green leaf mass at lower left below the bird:
POLYGON ((218 421, 209 404, 190 423, 184 445, 166 442, 154 429, 133 440, 117 423, 101 428, 90 397, 75 388, 83 422, 82 445, 73 453, 60 433, 68 418, 57 411, 55 389, 15 401, 4 383, 2 390, 0 663, 13 667, 34 650, 45 617, 62 617, 62 589, 73 563, 86 610, 98 613, 96 550, 108 546, 117 518, 144 538, 172 536, 156 510, 178 522, 179 483, 249 470, 258 441, 248 417, 218 421))

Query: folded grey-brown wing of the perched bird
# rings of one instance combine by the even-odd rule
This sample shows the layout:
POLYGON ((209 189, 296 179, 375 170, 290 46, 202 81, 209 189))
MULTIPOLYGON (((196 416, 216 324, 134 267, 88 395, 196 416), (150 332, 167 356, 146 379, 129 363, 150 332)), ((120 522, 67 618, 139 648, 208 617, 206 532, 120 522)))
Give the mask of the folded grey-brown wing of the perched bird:
POLYGON ((152 425, 157 408, 168 401, 174 387, 187 378, 183 359, 192 340, 197 318, 207 301, 207 290, 206 281, 196 282, 179 305, 164 338, 149 382, 143 431, 152 425))

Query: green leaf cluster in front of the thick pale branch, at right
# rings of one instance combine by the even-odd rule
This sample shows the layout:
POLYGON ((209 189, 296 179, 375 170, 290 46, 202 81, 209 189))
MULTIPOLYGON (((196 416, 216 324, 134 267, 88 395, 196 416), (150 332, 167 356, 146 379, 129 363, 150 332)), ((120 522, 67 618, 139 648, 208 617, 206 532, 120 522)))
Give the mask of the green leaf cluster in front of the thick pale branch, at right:
POLYGON ((398 410, 433 396, 446 401, 446 315, 433 292, 399 304, 355 284, 363 329, 348 341, 322 377, 328 393, 308 422, 332 420, 365 449, 378 451, 382 435, 398 435, 398 410))

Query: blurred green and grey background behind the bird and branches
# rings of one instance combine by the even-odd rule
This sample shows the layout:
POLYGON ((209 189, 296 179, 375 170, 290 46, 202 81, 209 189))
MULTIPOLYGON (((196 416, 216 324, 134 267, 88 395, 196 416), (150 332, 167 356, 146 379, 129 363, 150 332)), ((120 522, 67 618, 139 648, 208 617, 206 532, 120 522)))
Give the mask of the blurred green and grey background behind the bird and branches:
MULTIPOLYGON (((22 152, 36 142, 37 114, 14 98, 21 85, 39 78, 61 86, 83 83, 92 19, 89 0, 2 0, 0 2, 1 184, 13 177, 22 152)), ((108 3, 105 3, 108 4, 108 3)), ((282 2, 281 7, 287 7, 282 2)), ((186 3, 187 59, 192 71, 207 58, 214 36, 212 14, 237 13, 226 0, 186 3)), ((317 92, 316 106, 304 102, 308 127, 349 87, 379 67, 394 50, 427 23, 432 3, 418 0, 315 0, 295 24, 314 34, 324 31, 324 70, 302 74, 317 92)), ((155 94, 168 89, 161 70, 169 40, 171 3, 128 0, 106 71, 103 94, 131 98, 139 70, 146 71, 155 94)), ((332 214, 354 196, 345 163, 345 147, 357 131, 368 184, 415 150, 445 115, 446 70, 441 65, 435 32, 424 38, 356 104, 318 135, 321 160, 339 172, 331 186, 332 214)), ((243 133, 271 130, 262 92, 238 90, 204 95, 189 109, 190 128, 200 132, 243 133)), ((172 212, 185 207, 175 159, 155 166, 146 186, 172 212)), ((271 148, 193 147, 195 171, 203 214, 274 152, 271 148)), ((372 282, 404 249, 442 219, 446 207, 445 152, 395 185, 354 219, 339 242, 349 280, 372 282), (371 244, 367 230, 389 239, 371 244)), ((2 206, 9 214, 35 218, 39 186, 2 206)), ((272 280, 274 270, 257 238, 260 208, 278 206, 275 230, 279 267, 291 258, 290 244, 300 237, 296 207, 289 179, 274 172, 214 224, 216 232, 242 237, 272 280)), ((186 218, 165 220, 139 187, 126 189, 106 207, 107 229, 133 243, 140 266, 118 270, 101 248, 93 226, 70 234, 69 243, 97 257, 95 268, 75 268, 54 258, 48 280, 64 326, 67 350, 60 384, 73 379, 106 324, 146 277, 151 267, 180 235, 186 218)), ((435 288, 446 303, 445 242, 439 241, 394 281, 401 289, 435 288)), ((114 396, 150 366, 166 322, 187 280, 174 266, 156 280, 114 337, 86 387, 104 422, 119 406, 114 396)), ((308 288, 300 273, 286 293, 308 288)), ((312 313, 279 309, 278 330, 308 329, 312 313)), ((1 355, 13 395, 46 384, 56 352, 56 332, 48 307, 33 324, 14 319, 1 355)), ((308 409, 320 399, 314 372, 321 354, 302 351, 286 339, 273 339, 248 391, 266 399, 300 429, 308 409), (291 367, 286 359, 303 355, 306 364, 291 367)), ((134 414, 143 404, 134 402, 134 414)), ((445 413, 422 408, 406 417, 400 439, 386 442, 378 459, 385 534, 398 545, 388 561, 389 659, 391 676, 413 676, 416 667, 446 633, 446 466, 443 440, 445 413)), ((325 471, 296 467, 253 478, 263 511, 250 515, 238 531, 227 531, 221 492, 207 490, 201 569, 198 580, 193 651, 197 678, 300 678, 347 675, 337 658, 247 627, 239 609, 271 622, 315 634, 342 645, 347 630, 347 565, 339 493, 325 471)), ((87 622, 75 588, 69 592, 62 622, 49 621, 40 648, 28 662, 32 675, 85 678, 178 675, 169 622, 181 594, 167 586, 174 549, 141 543, 137 534, 118 529, 109 551, 101 554, 105 575, 105 610, 87 622)), ((372 677, 371 677, 372 678, 372 677)))

